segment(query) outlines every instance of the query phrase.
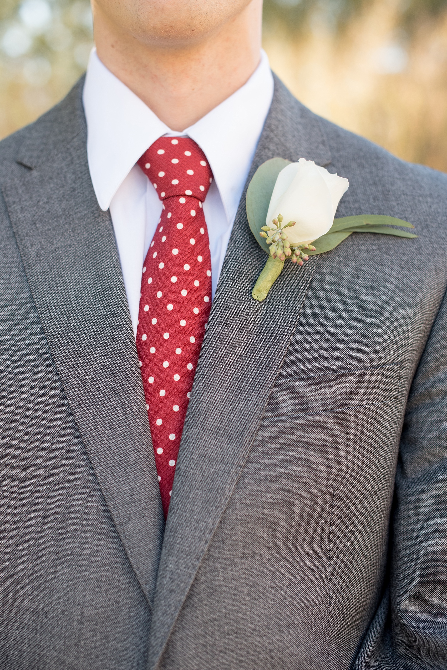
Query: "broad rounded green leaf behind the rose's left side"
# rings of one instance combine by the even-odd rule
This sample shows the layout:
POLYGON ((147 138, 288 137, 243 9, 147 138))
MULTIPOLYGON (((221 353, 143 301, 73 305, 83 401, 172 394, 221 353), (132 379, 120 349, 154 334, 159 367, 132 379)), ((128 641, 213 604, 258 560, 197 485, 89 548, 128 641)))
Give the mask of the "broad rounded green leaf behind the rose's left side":
POLYGON ((276 184, 276 178, 289 163, 290 161, 284 158, 271 158, 258 167, 248 185, 246 196, 248 224, 256 241, 266 253, 270 252, 266 239, 260 236, 260 232, 262 226, 266 224, 268 206, 276 184))

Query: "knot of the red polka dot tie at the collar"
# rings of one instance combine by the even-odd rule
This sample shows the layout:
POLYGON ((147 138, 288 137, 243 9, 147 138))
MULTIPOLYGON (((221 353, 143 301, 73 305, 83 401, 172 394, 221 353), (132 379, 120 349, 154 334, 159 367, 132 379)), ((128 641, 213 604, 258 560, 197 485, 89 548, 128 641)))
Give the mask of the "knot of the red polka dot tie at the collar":
POLYGON ((203 202, 213 181, 205 154, 190 137, 159 137, 138 164, 161 200, 193 196, 203 202))

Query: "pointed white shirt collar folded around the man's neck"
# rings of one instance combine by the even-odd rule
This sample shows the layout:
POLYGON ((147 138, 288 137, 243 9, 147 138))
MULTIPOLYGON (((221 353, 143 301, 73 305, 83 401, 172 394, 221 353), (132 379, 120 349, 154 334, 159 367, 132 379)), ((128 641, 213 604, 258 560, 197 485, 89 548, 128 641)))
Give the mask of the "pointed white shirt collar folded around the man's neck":
MULTIPOLYGON (((273 97, 273 76, 264 51, 250 79, 223 103, 185 129, 205 153, 232 222, 273 97)), ((82 100, 87 122, 88 167, 102 210, 132 167, 162 135, 163 121, 99 60, 92 50, 82 100)))

